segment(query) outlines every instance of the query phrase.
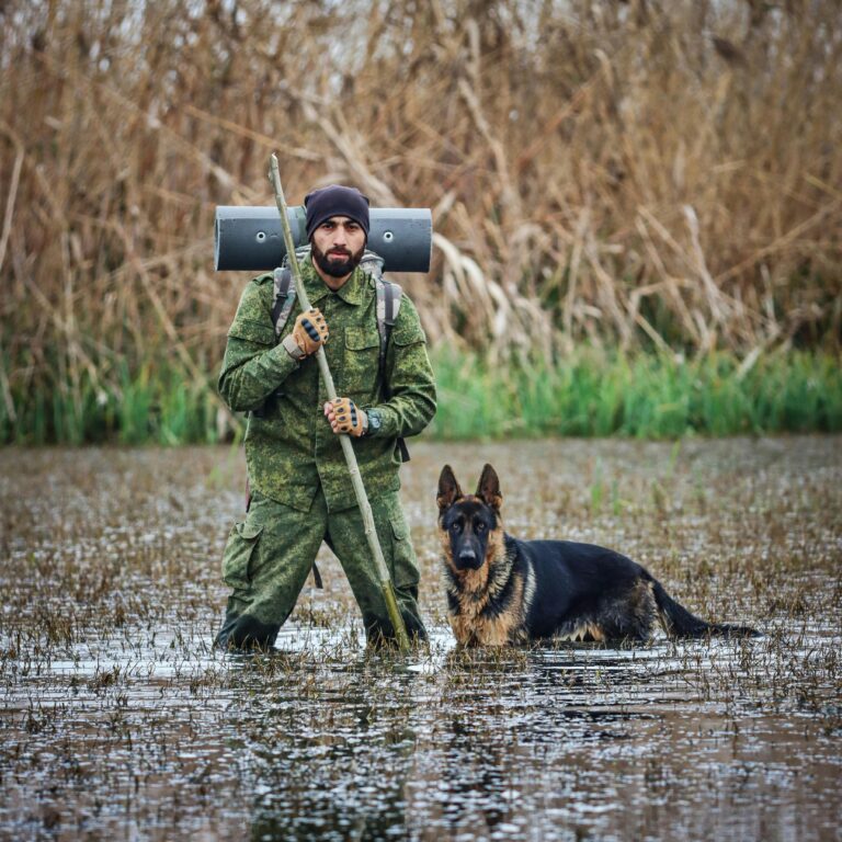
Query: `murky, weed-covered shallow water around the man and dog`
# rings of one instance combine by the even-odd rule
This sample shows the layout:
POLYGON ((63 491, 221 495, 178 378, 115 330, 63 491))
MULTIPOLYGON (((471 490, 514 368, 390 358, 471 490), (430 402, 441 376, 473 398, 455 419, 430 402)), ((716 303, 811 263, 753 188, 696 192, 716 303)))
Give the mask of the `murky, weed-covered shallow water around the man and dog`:
POLYGON ((0 452, 0 838, 839 839, 842 440, 417 444, 429 653, 330 554, 275 653, 210 649, 241 454, 0 452), (604 544, 749 641, 462 652, 435 487, 604 544))

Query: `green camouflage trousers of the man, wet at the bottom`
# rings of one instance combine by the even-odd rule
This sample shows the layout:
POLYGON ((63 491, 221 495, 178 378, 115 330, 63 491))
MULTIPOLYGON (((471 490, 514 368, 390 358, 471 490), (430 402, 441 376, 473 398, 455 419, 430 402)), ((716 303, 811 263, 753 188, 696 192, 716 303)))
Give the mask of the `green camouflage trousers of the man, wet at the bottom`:
MULTIPOLYGON (((386 493, 371 505, 407 632, 410 638, 426 639, 418 610, 418 564, 398 493, 386 493)), ((359 508, 329 512, 319 491, 309 512, 300 512, 254 492, 246 520, 231 528, 223 555, 223 581, 231 595, 216 646, 273 646, 322 541, 345 571, 368 641, 394 639, 359 508)))

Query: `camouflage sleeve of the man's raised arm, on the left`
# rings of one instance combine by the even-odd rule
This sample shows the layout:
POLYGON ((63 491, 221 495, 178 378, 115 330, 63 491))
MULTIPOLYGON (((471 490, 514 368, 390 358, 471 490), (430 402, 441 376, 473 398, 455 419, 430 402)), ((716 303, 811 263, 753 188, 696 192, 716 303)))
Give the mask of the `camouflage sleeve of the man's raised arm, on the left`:
MULTIPOLYGON (((261 283, 263 282, 263 283, 261 283)), ((259 409, 298 363, 275 343, 269 300, 258 277, 246 287, 228 330, 219 395, 235 412, 259 409)))

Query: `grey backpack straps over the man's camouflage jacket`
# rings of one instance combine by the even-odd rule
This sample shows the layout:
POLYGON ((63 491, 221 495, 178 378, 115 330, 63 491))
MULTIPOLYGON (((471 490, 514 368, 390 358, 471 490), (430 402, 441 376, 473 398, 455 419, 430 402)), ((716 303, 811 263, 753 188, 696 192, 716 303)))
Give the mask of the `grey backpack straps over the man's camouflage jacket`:
MULTIPOLYGON (((310 247, 303 246, 295 250, 295 257, 300 262, 310 255, 310 247)), ((383 383, 384 398, 389 399, 389 387, 384 380, 383 373, 386 367, 386 351, 389 345, 389 337, 400 310, 400 296, 402 289, 398 284, 386 281, 383 276, 384 260, 379 254, 365 250, 360 261, 360 269, 374 278, 374 289, 377 297, 377 334, 380 338, 380 350, 377 363, 377 372, 383 383)), ((289 314, 295 304, 296 292, 293 283, 293 273, 289 271, 288 258, 274 271, 275 291, 272 299, 272 322, 275 326, 275 342, 281 340, 281 333, 289 319, 289 314)), ((409 462, 409 450, 403 439, 398 439, 401 462, 409 462)))

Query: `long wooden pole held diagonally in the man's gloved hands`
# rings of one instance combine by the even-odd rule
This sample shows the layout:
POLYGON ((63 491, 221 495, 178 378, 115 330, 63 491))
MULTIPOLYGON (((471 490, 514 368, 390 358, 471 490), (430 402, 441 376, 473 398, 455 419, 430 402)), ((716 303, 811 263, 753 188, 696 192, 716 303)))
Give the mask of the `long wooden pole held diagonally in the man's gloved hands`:
MULTIPOLYGON (((287 217, 286 198, 284 197, 284 189, 281 186, 281 173, 277 168, 277 156, 273 152, 269 160, 269 179, 272 182, 272 187, 275 191, 275 203, 277 204, 277 212, 281 214, 281 227, 284 231, 284 242, 286 243, 286 255, 287 260, 289 261, 289 270, 292 271, 293 278, 295 281, 295 292, 298 295, 301 309, 309 310, 310 301, 307 297, 307 291, 304 288, 304 282, 301 281, 301 269, 298 265, 298 259, 295 255, 295 241, 293 240, 293 231, 289 227, 289 218, 287 217)), ((338 397, 337 388, 333 385, 333 377, 330 374, 330 368, 328 367, 328 357, 325 355, 323 348, 319 348, 319 350, 316 352, 316 362, 319 364, 319 373, 321 374, 321 379, 325 383, 325 390, 328 392, 328 400, 335 400, 338 397)), ((354 454, 354 447, 351 444, 350 435, 346 433, 340 434, 339 442, 342 445, 342 453, 345 456, 348 470, 351 474, 351 482, 354 486, 356 502, 363 515, 365 537, 368 541, 368 547, 371 548, 372 557, 374 558, 374 567, 377 572, 377 578, 380 581, 383 598, 386 602, 386 611, 389 614, 391 626, 395 629, 395 635, 398 639, 398 648, 401 652, 407 652, 409 651, 409 636, 407 635, 407 627, 403 625, 403 617, 400 616, 400 611, 398 610, 398 600, 395 596, 395 589, 392 588, 391 578, 389 577, 389 569, 386 567, 386 560, 383 557, 383 549, 380 549, 380 542, 377 539, 377 530, 374 525, 372 505, 368 502, 368 496, 365 493, 363 478, 360 475, 360 467, 356 464, 356 454, 354 454)))

